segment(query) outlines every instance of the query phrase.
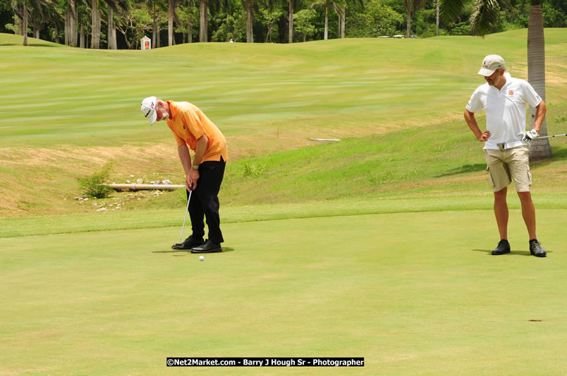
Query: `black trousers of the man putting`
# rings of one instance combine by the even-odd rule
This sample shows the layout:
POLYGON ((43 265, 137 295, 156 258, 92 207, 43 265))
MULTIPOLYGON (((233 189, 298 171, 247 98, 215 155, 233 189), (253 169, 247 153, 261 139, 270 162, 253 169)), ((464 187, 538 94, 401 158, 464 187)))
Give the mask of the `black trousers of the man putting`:
MULTIPOLYGON (((193 189, 191 201, 189 201, 189 216, 193 237, 205 237, 204 218, 207 218, 209 227, 209 239, 221 244, 224 242, 221 232, 221 219, 219 217, 219 190, 226 162, 207 161, 199 165, 199 180, 197 188, 193 189)), ((189 197, 189 191, 187 191, 189 197)))

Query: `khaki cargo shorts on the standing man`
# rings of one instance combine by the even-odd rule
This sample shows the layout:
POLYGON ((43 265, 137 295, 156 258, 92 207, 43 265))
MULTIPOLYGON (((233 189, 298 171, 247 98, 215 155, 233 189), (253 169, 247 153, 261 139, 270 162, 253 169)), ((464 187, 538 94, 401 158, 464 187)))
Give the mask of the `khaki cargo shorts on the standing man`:
POLYGON ((499 192, 514 182, 516 192, 530 192, 530 149, 516 146, 511 149, 484 150, 487 158, 488 180, 493 192, 499 192))

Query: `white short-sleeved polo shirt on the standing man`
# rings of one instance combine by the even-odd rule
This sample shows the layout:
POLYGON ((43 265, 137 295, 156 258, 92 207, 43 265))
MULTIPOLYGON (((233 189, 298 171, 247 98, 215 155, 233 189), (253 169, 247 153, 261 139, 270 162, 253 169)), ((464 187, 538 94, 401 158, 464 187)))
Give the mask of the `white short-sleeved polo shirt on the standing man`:
POLYGON ((499 149, 498 144, 505 143, 505 149, 525 145, 521 132, 525 132, 526 104, 537 106, 542 99, 532 85, 525 80, 512 78, 504 73, 506 83, 499 90, 488 83, 477 87, 467 110, 472 113, 484 110, 487 115, 487 130, 491 136, 484 143, 484 149, 499 149))

